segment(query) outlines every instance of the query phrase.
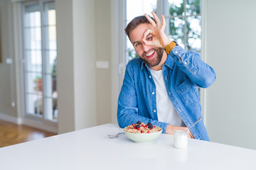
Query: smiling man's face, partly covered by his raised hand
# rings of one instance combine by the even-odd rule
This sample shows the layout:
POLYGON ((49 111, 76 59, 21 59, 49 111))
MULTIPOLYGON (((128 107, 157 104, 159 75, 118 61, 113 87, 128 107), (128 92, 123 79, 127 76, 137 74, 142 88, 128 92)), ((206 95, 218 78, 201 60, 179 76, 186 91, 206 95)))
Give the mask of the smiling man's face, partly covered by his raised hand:
MULTIPOLYGON (((152 29, 152 26, 148 23, 141 23, 137 28, 129 33, 129 38, 134 46, 137 55, 148 64, 149 67, 154 67, 161 62, 161 58, 164 49, 155 47, 153 45, 145 45, 142 41, 146 30, 152 29)), ((146 40, 152 40, 153 35, 148 35, 146 40)))

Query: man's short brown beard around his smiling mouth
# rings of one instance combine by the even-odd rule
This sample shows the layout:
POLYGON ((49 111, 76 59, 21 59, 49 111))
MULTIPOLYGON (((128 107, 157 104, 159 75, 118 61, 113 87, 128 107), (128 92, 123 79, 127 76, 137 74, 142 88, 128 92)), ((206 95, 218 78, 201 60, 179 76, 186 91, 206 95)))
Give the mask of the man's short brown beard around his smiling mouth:
POLYGON ((142 57, 141 57, 142 60, 144 62, 146 62, 146 64, 149 67, 157 66, 161 62, 161 58, 163 57, 163 53, 164 53, 164 48, 152 48, 152 49, 155 50, 155 52, 156 52, 156 57, 153 60, 147 60, 147 58, 146 58, 147 52, 143 52, 142 57))

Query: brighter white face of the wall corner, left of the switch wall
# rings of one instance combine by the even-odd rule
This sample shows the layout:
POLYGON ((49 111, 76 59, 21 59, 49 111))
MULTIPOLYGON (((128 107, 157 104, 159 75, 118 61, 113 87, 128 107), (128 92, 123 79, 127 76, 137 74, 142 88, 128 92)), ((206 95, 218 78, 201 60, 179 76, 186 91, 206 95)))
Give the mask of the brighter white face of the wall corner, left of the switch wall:
POLYGON ((73 0, 75 130, 97 125, 95 1, 73 0))

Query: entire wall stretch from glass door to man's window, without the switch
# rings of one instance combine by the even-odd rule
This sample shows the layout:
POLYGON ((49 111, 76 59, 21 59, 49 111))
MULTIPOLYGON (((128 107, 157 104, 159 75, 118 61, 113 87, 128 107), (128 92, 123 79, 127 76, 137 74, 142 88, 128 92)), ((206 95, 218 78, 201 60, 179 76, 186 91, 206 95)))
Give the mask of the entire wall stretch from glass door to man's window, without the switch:
POLYGON ((68 82, 58 83, 59 132, 112 122, 111 3, 56 1, 58 82, 68 82))

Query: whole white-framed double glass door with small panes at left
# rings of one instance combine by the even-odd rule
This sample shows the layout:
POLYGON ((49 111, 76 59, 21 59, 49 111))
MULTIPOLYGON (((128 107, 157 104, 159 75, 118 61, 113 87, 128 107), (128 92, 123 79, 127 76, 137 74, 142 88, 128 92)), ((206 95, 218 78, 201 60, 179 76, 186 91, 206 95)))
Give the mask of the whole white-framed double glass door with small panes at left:
POLYGON ((22 9, 24 112, 57 122, 55 3, 29 1, 22 9))

